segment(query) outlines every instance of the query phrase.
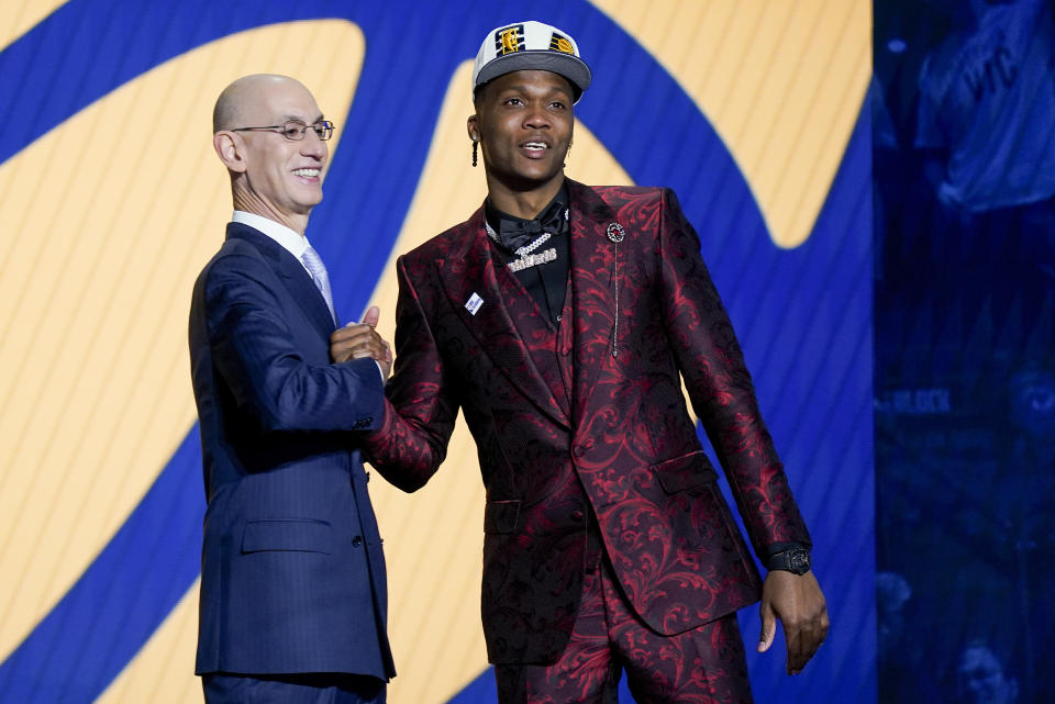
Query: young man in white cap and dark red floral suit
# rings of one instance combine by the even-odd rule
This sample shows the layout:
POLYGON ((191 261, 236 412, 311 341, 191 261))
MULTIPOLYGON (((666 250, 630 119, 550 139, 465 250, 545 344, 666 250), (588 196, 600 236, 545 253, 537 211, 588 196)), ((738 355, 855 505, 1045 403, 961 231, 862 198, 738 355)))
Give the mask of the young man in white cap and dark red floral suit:
MULTIPOLYGON (((638 704, 749 702, 737 608, 762 597, 760 650, 782 621, 789 673, 828 632, 810 537, 675 194, 564 176, 589 83, 559 30, 488 34, 468 119, 488 197, 397 264, 396 371, 366 451, 414 491, 465 413, 487 488, 482 619, 502 704, 614 702, 623 670, 638 704)), ((332 351, 354 354, 342 331, 332 351)))

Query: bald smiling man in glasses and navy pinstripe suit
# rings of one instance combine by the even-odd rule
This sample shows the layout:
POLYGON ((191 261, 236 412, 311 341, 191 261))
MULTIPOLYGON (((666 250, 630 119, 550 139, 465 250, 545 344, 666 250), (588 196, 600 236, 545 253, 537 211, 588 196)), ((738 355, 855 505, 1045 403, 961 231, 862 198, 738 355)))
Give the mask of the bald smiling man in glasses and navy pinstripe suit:
POLYGON ((357 445, 390 355, 352 325, 332 364, 329 277, 304 237, 333 123, 300 82, 257 75, 223 91, 213 132, 235 212, 190 311, 209 502, 196 672, 209 704, 382 703, 385 557, 357 445))

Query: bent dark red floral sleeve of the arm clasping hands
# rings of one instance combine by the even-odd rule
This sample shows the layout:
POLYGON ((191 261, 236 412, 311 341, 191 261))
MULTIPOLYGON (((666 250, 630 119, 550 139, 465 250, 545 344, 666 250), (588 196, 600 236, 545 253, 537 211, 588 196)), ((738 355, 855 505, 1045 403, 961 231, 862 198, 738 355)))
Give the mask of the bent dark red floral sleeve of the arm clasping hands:
POLYGON ((385 479, 410 492, 423 487, 446 457, 458 402, 433 337, 432 319, 407 272, 404 257, 397 260, 396 269, 395 371, 386 389, 384 423, 379 431, 366 434, 363 447, 385 479))

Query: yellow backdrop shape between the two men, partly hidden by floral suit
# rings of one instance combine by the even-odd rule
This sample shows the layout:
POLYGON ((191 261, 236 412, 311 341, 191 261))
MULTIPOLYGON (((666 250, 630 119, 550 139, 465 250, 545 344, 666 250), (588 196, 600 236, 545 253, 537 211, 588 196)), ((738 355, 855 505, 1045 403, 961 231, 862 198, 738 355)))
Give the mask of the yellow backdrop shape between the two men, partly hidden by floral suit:
MULTIPOLYGON (((410 212, 375 291, 378 332, 396 328, 396 255, 468 217, 487 194, 482 166, 470 166, 465 121, 473 113, 471 63, 447 89, 410 212)), ((587 183, 629 185, 630 178, 590 134, 575 127, 567 174, 587 183)), ((332 195, 332 194, 331 194, 332 195)), ((476 445, 462 418, 443 467, 424 489, 407 495, 376 478, 374 506, 388 561, 389 635, 399 675, 392 702, 441 704, 487 667, 480 629, 484 484, 476 445)))

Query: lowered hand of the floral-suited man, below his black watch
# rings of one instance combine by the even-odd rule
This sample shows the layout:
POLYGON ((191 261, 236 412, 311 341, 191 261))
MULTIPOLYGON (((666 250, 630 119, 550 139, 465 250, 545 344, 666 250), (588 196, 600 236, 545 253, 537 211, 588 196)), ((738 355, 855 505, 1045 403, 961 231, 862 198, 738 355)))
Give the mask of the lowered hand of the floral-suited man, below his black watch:
POLYGON ((801 577, 785 570, 769 572, 762 588, 760 612, 758 652, 773 645, 779 618, 788 646, 787 671, 798 674, 828 636, 828 606, 813 572, 801 577))

